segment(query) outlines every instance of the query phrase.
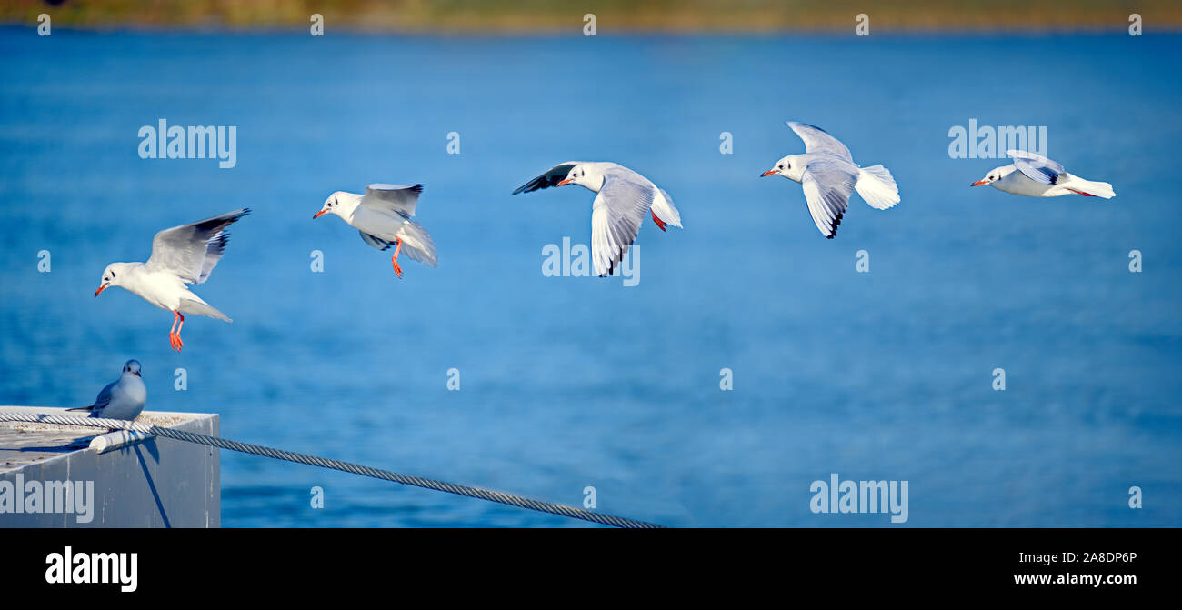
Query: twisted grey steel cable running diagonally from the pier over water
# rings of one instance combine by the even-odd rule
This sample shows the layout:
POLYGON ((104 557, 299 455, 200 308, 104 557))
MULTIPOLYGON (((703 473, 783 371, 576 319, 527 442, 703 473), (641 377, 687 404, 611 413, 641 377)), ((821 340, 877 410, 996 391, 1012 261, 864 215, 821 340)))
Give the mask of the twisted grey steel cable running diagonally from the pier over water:
POLYGON ((161 428, 158 426, 149 426, 147 423, 135 423, 124 420, 104 420, 100 417, 65 417, 60 415, 50 415, 50 414, 0 411, 0 422, 2 421, 53 423, 59 426, 83 426, 89 428, 136 430, 145 434, 155 434, 156 436, 176 439, 178 441, 186 441, 197 444, 207 444, 221 449, 229 449, 232 452, 262 455, 265 458, 274 458, 275 460, 285 460, 296 463, 306 463, 309 466, 319 466, 320 468, 331 468, 333 471, 359 474, 362 476, 370 476, 374 479, 382 479, 385 481, 394 481, 403 485, 413 485, 415 487, 435 489, 437 492, 467 495, 468 498, 478 498, 480 500, 488 500, 491 502, 517 506, 518 508, 528 508, 531 511, 539 511, 544 513, 570 517, 571 519, 583 519, 584 521, 592 521, 597 524, 610 525, 613 527, 629 527, 629 528, 661 527, 660 525, 645 521, 638 521, 636 519, 628 519, 625 517, 616 517, 604 513, 596 513, 591 511, 585 511, 583 508, 576 508, 573 506, 566 506, 563 504, 552 504, 541 500, 532 500, 530 498, 522 498, 520 495, 514 495, 509 493, 494 492, 492 489, 483 489, 480 487, 468 487, 466 485, 455 485, 446 481, 436 481, 434 479, 424 479, 422 476, 411 476, 408 474, 400 474, 391 471, 370 468, 369 466, 362 466, 358 463, 343 462, 339 460, 330 460, 327 458, 319 458, 316 455, 307 455, 303 453, 286 452, 284 449, 264 447, 261 444, 251 444, 245 442, 230 441, 228 439, 221 439, 217 436, 206 436, 203 434, 176 430, 173 428, 161 428))

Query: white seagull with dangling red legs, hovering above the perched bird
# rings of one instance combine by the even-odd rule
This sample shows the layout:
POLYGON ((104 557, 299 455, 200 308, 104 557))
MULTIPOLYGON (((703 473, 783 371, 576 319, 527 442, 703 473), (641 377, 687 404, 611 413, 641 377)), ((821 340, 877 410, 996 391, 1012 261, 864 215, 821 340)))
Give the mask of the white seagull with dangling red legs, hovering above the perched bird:
POLYGON ((186 284, 203 284, 221 260, 229 242, 226 227, 249 214, 249 209, 228 212, 221 216, 164 229, 151 240, 148 262, 112 262, 103 270, 103 284, 95 296, 110 286, 121 286, 138 294, 152 305, 173 312, 173 329, 168 342, 181 351, 181 329, 184 313, 208 316, 230 322, 225 313, 213 309, 201 297, 189 292, 186 284), (177 325, 180 322, 180 325, 177 325))

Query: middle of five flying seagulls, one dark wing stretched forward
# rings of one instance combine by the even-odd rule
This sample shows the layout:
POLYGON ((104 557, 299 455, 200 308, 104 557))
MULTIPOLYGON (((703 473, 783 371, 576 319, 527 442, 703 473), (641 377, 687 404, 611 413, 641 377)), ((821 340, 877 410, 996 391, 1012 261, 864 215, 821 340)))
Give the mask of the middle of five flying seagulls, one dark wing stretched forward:
POLYGON ((673 197, 649 179, 616 163, 604 161, 567 161, 546 170, 513 192, 531 193, 540 188, 578 184, 598 193, 591 203, 591 258, 599 277, 611 275, 636 241, 645 213, 651 214, 661 231, 673 225, 681 228, 681 214, 673 197))

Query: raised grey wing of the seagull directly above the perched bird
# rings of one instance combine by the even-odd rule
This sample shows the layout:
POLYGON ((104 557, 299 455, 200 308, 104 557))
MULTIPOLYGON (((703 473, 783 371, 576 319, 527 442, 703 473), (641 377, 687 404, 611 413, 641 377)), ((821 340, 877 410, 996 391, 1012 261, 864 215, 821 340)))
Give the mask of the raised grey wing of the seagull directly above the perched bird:
POLYGON ((157 233, 151 240, 147 267, 173 273, 186 284, 204 283, 229 244, 226 227, 249 213, 248 208, 242 208, 157 233))

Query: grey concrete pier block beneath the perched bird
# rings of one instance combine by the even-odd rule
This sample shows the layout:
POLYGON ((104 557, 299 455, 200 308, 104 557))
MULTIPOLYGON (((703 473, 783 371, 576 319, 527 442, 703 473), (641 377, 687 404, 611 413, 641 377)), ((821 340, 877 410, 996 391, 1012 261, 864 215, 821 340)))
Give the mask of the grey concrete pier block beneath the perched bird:
MULTIPOLYGON (((85 417, 52 407, 0 407, 85 417)), ((216 414, 136 420, 209 436, 216 414)), ((219 527, 217 449, 148 434, 0 422, 0 527, 219 527)))

